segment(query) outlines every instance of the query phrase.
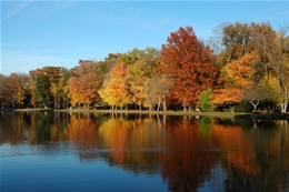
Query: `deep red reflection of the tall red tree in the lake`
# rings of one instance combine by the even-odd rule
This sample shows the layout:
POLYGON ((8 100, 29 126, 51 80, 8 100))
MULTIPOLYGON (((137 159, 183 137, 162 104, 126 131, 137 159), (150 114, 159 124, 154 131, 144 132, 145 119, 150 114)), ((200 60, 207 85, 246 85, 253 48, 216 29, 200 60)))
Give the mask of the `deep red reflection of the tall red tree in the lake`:
POLYGON ((211 170, 218 153, 211 150, 209 141, 202 141, 199 123, 179 119, 167 122, 167 148, 162 176, 170 191, 198 191, 205 181, 210 181, 211 170))

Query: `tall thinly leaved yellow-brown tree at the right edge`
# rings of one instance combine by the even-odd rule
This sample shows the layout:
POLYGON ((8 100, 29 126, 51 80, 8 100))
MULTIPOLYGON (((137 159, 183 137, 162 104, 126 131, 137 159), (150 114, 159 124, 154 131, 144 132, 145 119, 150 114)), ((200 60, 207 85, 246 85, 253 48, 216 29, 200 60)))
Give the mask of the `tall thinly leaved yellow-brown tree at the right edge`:
POLYGON ((261 57, 260 69, 263 69, 263 79, 277 90, 281 112, 286 112, 289 100, 288 29, 275 31, 270 23, 252 23, 252 26, 255 49, 261 57))

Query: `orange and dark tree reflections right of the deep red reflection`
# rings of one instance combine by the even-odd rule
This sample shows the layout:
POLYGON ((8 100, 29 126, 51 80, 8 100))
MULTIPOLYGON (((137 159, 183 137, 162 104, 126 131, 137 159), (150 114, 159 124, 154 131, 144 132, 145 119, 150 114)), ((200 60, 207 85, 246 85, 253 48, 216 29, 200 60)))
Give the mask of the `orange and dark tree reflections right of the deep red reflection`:
POLYGON ((266 123, 257 121, 258 129, 255 124, 250 130, 215 124, 215 134, 225 150, 226 191, 288 190, 289 140, 288 127, 282 122, 267 123, 266 128, 266 123))

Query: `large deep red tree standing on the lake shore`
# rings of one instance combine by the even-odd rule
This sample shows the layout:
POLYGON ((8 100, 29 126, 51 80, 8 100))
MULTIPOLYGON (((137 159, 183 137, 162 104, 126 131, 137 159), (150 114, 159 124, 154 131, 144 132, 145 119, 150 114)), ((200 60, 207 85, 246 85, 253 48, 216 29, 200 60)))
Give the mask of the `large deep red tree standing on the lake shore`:
POLYGON ((217 68, 212 51, 198 40, 191 27, 180 28, 162 44, 163 71, 173 87, 169 98, 186 109, 199 102, 200 93, 213 85, 217 68))

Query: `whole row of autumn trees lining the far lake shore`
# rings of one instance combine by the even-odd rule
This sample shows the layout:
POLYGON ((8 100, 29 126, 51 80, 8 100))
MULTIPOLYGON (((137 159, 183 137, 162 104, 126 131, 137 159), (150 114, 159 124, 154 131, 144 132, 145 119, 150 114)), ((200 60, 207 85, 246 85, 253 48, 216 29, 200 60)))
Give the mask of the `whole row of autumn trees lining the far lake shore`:
POLYGON ((286 113, 288 101, 288 29, 268 22, 221 23, 207 42, 181 27, 160 49, 0 73, 0 108, 286 113))

